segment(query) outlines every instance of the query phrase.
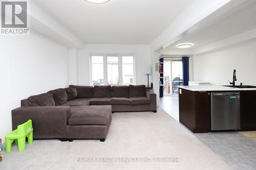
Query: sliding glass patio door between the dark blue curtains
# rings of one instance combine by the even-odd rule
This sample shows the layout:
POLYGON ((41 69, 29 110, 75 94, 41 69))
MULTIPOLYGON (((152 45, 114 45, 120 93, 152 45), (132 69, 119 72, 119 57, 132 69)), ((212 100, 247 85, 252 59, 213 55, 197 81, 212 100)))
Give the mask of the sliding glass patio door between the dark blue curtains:
POLYGON ((182 81, 182 59, 176 57, 164 57, 164 81, 163 93, 164 96, 178 95, 178 86, 181 86, 182 81))

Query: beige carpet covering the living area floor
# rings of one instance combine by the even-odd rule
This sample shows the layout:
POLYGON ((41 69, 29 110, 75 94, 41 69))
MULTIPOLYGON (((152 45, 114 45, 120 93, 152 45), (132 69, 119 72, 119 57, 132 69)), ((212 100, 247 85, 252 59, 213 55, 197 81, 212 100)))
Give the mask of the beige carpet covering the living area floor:
POLYGON ((105 142, 34 140, 24 152, 4 154, 0 169, 231 169, 180 123, 158 108, 114 113, 105 142), (144 162, 139 162, 141 159, 144 162), (154 161, 155 158, 178 162, 154 161), (86 158, 105 158, 97 162, 86 158), (110 159, 111 158, 111 159, 110 159), (147 159, 146 159, 147 158, 147 159), (79 159, 80 162, 77 162, 79 159), (108 159, 108 160, 106 160, 108 159), (127 161, 130 159, 130 162, 127 161), (88 162, 91 161, 91 162, 88 162), (145 162, 147 161, 147 162, 145 162))

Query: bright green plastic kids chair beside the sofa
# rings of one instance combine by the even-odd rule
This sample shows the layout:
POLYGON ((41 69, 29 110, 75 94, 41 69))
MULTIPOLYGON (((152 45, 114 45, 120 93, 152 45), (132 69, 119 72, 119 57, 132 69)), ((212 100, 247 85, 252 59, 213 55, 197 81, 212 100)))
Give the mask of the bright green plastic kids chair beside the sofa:
POLYGON ((28 138, 28 143, 33 143, 33 128, 32 120, 19 125, 17 129, 5 136, 5 150, 6 152, 11 152, 12 142, 15 140, 15 144, 18 145, 18 151, 22 152, 26 148, 26 137, 28 138))

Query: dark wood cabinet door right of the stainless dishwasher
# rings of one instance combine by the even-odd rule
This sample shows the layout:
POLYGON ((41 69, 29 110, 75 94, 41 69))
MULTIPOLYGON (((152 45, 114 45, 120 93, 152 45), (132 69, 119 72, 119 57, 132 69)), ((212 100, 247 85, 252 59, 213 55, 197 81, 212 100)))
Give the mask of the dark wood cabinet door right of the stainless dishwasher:
POLYGON ((256 91, 240 92, 241 130, 256 130, 256 91))

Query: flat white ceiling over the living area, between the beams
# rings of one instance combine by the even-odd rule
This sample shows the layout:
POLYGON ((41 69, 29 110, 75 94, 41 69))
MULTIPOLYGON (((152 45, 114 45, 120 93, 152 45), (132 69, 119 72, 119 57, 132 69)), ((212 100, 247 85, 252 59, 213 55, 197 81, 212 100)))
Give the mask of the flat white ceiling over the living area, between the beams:
POLYGON ((36 0, 84 43, 146 44, 194 0, 36 0))

